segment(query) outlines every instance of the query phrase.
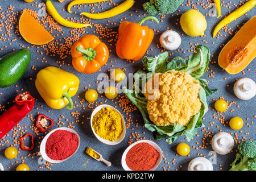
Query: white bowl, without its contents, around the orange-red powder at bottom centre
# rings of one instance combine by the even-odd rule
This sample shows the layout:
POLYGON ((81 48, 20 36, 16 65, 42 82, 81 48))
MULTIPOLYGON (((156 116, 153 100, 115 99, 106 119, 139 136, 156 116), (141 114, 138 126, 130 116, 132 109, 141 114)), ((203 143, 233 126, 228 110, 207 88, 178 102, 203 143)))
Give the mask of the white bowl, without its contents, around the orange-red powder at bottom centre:
POLYGON ((154 170, 159 166, 159 164, 161 163, 162 158, 163 158, 163 151, 162 151, 161 148, 158 146, 158 144, 156 144, 155 142, 152 142, 151 140, 139 140, 139 141, 134 142, 133 144, 131 144, 129 147, 126 148, 125 152, 123 152, 123 155, 122 155, 122 167, 123 167, 123 169, 125 169, 125 171, 133 171, 133 170, 130 169, 130 168, 127 166, 127 164, 126 164, 126 160, 125 160, 125 159, 126 159, 127 152, 129 152, 129 150, 130 150, 133 146, 135 146, 135 145, 138 144, 138 143, 142 143, 142 142, 151 144, 151 146, 153 146, 153 147, 155 148, 155 150, 157 150, 157 151, 159 152, 159 154, 160 154, 159 159, 158 159, 158 160, 156 161, 156 163, 155 163, 155 166, 152 167, 152 168, 151 168, 150 170, 148 170, 148 171, 154 171, 154 170))

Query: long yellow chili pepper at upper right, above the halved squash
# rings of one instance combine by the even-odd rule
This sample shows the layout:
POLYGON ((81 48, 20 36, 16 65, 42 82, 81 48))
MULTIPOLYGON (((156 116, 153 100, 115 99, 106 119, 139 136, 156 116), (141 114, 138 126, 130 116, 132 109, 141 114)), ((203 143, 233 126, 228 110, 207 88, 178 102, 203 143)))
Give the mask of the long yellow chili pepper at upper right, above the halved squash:
POLYGON ((221 30, 226 24, 233 22, 233 20, 239 18, 243 14, 250 11, 256 5, 256 0, 250 0, 244 3, 240 8, 230 13, 226 18, 222 19, 220 23, 217 24, 213 31, 213 38, 217 35, 218 31, 221 30))

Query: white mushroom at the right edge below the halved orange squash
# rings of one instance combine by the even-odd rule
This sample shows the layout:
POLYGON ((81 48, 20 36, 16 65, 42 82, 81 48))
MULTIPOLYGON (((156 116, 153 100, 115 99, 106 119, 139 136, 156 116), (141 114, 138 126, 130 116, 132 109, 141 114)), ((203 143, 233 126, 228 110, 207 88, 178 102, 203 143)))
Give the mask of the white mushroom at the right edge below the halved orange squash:
POLYGON ((234 84, 234 93, 241 100, 250 100, 256 94, 256 84, 250 78, 241 78, 234 84))

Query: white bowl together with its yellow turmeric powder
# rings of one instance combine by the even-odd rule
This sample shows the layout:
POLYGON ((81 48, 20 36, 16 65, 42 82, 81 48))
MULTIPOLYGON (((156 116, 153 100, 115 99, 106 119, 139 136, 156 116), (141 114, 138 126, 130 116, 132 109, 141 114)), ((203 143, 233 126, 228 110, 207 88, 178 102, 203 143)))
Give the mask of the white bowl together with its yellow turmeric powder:
POLYGON ((104 104, 96 107, 90 117, 90 126, 102 143, 115 145, 125 138, 125 119, 113 106, 104 104))

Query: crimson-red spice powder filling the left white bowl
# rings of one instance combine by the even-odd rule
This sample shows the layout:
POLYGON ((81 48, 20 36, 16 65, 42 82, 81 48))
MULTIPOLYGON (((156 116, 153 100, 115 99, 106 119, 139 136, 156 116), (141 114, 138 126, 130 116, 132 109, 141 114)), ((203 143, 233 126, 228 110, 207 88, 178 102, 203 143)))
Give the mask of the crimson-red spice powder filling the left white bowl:
POLYGON ((57 130, 46 141, 46 154, 53 160, 63 160, 76 151, 78 144, 76 134, 67 130, 57 130))

